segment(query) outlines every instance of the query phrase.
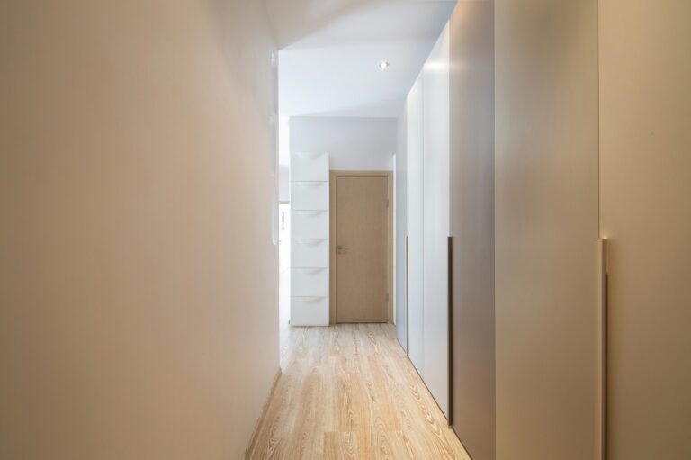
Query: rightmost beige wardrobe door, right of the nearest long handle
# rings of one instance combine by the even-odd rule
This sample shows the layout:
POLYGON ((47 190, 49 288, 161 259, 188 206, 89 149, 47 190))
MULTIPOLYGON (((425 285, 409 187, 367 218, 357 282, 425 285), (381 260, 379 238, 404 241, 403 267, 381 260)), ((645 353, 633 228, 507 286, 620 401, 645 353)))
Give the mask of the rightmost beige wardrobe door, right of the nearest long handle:
POLYGON ((691 3, 600 2, 612 460, 691 458, 691 3))

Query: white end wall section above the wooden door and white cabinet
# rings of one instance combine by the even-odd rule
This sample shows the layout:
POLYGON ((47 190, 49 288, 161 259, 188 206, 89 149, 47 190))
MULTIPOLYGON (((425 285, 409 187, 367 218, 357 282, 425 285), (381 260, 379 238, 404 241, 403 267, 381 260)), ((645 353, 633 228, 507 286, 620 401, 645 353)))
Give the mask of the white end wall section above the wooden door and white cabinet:
POLYGON ((393 169, 396 118, 291 117, 291 151, 328 152, 331 169, 393 169))

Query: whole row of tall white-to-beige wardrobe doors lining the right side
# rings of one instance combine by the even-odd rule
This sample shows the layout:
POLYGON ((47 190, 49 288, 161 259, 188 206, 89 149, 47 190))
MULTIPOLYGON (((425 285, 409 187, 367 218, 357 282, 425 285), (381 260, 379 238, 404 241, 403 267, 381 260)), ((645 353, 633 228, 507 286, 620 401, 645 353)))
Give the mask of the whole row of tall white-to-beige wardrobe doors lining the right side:
POLYGON ((691 458, 689 24, 687 0, 460 0, 448 75, 408 95, 408 347, 444 406, 451 299, 473 460, 691 458))

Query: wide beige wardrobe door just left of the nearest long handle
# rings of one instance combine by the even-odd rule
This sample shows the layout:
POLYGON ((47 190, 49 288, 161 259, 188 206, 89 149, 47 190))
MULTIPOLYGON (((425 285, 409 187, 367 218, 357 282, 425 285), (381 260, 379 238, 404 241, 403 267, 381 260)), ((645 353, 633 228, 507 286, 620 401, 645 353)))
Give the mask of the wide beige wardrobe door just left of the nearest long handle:
POLYGON ((597 0, 495 13, 497 458, 592 458, 597 0))

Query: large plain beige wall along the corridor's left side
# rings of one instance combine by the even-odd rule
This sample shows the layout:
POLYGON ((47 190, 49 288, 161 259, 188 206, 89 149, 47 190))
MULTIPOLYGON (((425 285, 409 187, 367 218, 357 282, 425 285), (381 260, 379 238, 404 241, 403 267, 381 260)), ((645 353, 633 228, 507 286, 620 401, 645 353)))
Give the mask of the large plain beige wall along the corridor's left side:
POLYGON ((0 457, 243 455, 278 368, 260 5, 0 5, 0 457))

